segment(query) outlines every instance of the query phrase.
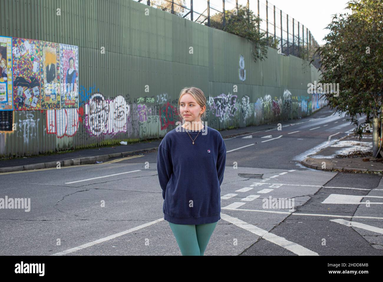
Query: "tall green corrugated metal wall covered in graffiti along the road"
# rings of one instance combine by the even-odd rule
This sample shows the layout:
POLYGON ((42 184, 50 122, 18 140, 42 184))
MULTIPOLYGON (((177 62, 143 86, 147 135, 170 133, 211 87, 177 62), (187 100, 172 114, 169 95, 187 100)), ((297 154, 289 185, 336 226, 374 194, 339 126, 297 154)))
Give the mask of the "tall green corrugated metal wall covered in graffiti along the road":
POLYGON ((79 46, 81 94, 73 136, 47 134, 47 110, 13 111, 17 130, 0 132, 0 157, 162 137, 178 121, 172 111, 186 86, 204 91, 207 124, 218 130, 304 117, 318 108, 307 94, 307 84, 319 80, 318 71, 302 59, 269 48, 268 58, 254 63, 246 39, 133 0, 1 1, 0 23, 1 36, 79 46), (128 105, 126 122, 118 130, 109 132, 112 115, 105 133, 93 132, 87 123, 99 122, 85 106, 95 93, 108 105, 117 96, 128 105))

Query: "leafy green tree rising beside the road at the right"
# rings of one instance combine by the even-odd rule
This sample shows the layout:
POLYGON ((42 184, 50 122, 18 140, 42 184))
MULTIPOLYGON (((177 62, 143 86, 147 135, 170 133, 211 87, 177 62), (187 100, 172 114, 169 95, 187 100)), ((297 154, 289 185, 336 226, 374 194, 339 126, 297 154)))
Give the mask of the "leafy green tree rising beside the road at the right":
POLYGON ((362 137, 366 125, 359 124, 358 115, 372 117, 375 156, 382 121, 383 0, 352 0, 346 8, 351 13, 334 15, 324 37, 327 43, 316 50, 323 72, 320 83, 339 83, 339 93, 324 95, 332 109, 350 115, 355 135, 362 137))

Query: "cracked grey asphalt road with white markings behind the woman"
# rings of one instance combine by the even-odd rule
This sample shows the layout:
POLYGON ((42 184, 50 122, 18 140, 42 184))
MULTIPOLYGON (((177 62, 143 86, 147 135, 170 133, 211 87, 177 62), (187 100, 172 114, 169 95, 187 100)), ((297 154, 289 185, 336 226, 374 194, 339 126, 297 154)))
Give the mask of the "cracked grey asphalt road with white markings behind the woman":
MULTIPOLYGON (((221 220, 206 256, 383 255, 381 176, 298 163, 353 129, 321 115, 225 139, 221 220)), ((156 158, 0 174, 0 198, 30 198, 28 212, 0 210, 0 255, 180 255, 156 158)))

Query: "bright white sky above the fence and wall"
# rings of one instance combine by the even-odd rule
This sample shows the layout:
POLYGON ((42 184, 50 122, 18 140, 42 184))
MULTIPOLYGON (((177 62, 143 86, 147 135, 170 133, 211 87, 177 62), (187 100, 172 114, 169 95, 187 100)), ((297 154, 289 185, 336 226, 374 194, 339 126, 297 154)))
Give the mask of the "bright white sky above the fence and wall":
MULTIPOLYGON (((275 5, 283 13, 288 14, 289 19, 295 18, 295 20, 300 21, 311 31, 318 44, 322 45, 325 43, 322 39, 328 33, 328 30, 324 28, 331 22, 332 15, 349 12, 349 10, 344 10, 347 2, 348 0, 270 0, 268 5, 269 7, 275 5)), ((185 3, 190 7, 190 0, 185 0, 185 3)), ((236 0, 225 0, 225 3, 227 10, 229 10, 235 7, 236 0)), ((239 5, 246 5, 246 3, 247 0, 238 0, 239 5)), ((257 0, 250 0, 249 3, 250 9, 256 15, 257 0)), ((260 0, 260 3, 260 9, 262 9, 262 3, 265 5, 266 0, 260 0)), ((210 5, 222 11, 222 0, 210 0, 210 5)), ((202 12, 207 7, 207 1, 193 0, 193 7, 202 12)))

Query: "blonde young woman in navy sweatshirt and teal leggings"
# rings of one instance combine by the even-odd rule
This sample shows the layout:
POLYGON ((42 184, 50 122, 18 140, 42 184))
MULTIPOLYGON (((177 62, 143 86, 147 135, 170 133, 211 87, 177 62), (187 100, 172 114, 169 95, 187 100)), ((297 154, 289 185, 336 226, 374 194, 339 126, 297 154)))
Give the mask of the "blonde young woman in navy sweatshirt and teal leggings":
POLYGON ((178 105, 182 125, 170 130, 158 148, 162 210, 182 255, 203 256, 221 219, 226 146, 218 130, 201 123, 206 116, 201 89, 182 89, 178 105))

